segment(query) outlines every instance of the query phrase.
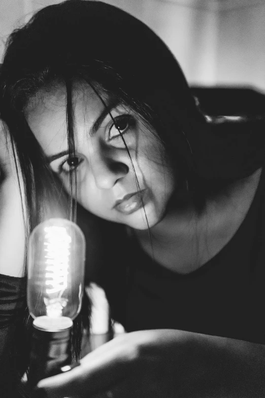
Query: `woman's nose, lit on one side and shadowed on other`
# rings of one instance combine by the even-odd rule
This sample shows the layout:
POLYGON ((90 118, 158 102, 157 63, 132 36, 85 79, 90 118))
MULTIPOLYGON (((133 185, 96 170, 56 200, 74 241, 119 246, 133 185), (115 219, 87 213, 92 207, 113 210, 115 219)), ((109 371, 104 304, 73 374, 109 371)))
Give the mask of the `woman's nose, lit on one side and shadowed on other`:
POLYGON ((93 159, 91 166, 96 187, 99 189, 111 189, 129 171, 125 163, 104 156, 97 156, 96 159, 93 159))

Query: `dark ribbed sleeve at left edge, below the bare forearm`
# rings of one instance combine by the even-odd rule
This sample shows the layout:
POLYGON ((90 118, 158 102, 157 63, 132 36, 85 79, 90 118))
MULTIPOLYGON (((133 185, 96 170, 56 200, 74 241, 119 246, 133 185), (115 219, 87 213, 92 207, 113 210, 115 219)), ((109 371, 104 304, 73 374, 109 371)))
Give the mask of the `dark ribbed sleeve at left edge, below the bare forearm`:
POLYGON ((16 330, 26 307, 26 278, 0 274, 0 395, 16 396, 16 330))

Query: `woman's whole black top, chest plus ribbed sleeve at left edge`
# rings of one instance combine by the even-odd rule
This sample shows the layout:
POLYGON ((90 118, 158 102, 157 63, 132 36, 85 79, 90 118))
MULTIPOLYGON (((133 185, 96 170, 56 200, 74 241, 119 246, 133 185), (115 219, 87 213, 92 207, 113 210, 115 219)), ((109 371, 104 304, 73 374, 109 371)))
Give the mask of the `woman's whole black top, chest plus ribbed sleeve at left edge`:
MULTIPOLYGON (((127 331, 174 328, 265 344, 265 171, 233 238, 186 275, 153 262, 123 227, 102 225, 105 230, 99 232, 112 233, 111 247, 104 241, 105 261, 96 265, 100 276, 94 280, 105 288, 112 316, 127 331)), ((89 241, 87 246, 93 250, 89 241)), ((16 368, 15 330, 25 306, 25 285, 25 278, 0 275, 1 392, 15 386, 16 375, 7 375, 16 368)))

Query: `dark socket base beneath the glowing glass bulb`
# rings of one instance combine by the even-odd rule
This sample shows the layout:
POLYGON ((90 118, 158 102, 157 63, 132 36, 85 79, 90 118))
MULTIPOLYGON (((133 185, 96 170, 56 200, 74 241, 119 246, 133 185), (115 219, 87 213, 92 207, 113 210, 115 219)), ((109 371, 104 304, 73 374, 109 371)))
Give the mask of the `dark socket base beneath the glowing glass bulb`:
MULTIPOLYGON (((70 318, 69 320, 72 322, 70 318)), ((30 387, 35 387, 46 377, 60 373, 62 366, 71 363, 71 326, 55 331, 44 330, 40 329, 43 323, 35 321, 27 378, 30 387)))

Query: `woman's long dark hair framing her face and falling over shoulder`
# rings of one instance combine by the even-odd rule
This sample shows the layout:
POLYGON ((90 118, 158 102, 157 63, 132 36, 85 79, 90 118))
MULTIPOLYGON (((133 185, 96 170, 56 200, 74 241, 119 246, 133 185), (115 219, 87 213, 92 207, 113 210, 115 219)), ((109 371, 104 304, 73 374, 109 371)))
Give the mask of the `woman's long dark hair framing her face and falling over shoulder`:
MULTIPOLYGON (((23 171, 30 228, 41 221, 47 195, 43 181, 47 177, 50 186, 53 183, 24 112, 39 90, 49 90, 54 82, 64 85, 73 154, 76 81, 92 87, 103 104, 106 94, 116 97, 156 131, 173 166, 178 192, 197 211, 209 195, 263 165, 264 138, 254 134, 263 129, 263 122, 237 128, 209 123, 177 60, 148 26, 102 2, 67 0, 40 10, 10 35, 1 68, 0 112, 23 171), (245 144, 238 148, 243 136, 245 144)), ((75 174, 70 178, 75 190, 75 174)), ((71 196, 74 191, 70 218, 75 219, 71 196)), ((173 199, 177 201, 177 195, 173 199)))

